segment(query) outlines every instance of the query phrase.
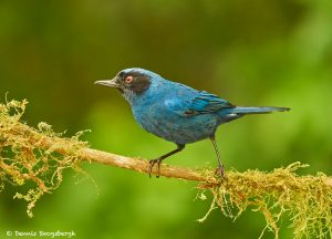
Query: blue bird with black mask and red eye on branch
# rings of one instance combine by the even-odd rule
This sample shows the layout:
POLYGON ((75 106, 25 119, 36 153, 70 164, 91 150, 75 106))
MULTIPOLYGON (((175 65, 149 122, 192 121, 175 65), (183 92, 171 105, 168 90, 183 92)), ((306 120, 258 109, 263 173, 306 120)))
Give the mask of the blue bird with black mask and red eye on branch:
POLYGON ((218 159, 216 174, 225 177, 225 168, 216 143, 219 125, 248 114, 286 112, 289 107, 236 106, 206 91, 198 91, 181 83, 169 81, 159 74, 128 67, 120 71, 111 80, 100 80, 95 84, 117 89, 129 103, 136 122, 147 132, 176 144, 176 149, 149 160, 148 175, 152 177, 160 163, 181 152, 187 144, 210 139, 218 159))

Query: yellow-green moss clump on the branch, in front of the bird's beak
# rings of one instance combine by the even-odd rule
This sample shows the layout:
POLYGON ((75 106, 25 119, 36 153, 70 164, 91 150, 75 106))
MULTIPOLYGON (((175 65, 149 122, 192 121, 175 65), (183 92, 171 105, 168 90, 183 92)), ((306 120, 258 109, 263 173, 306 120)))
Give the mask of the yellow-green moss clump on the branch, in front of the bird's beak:
MULTIPOLYGON (((0 191, 6 183, 18 188, 13 198, 28 202, 27 212, 32 217, 35 202, 44 195, 56 189, 63 179, 63 170, 72 168, 82 173, 77 149, 85 147, 80 142, 82 132, 71 138, 61 138, 63 134, 54 133, 46 123, 39 123, 38 128, 31 128, 34 135, 19 134, 19 124, 28 102, 23 100, 0 104, 0 191), (43 139, 52 138, 51 147, 42 147, 43 139), (69 148, 70 154, 59 154, 58 148, 69 148)), ((84 172, 83 172, 84 173, 84 172)))

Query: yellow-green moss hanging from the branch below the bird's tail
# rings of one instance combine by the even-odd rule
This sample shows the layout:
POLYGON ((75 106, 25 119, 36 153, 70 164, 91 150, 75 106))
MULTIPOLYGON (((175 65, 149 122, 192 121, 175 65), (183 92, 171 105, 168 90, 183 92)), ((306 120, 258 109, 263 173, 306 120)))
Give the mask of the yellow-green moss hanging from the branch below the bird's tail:
POLYGON ((270 230, 279 238, 280 219, 287 216, 294 238, 331 238, 331 178, 322 173, 317 176, 299 176, 295 172, 301 167, 308 165, 293 163, 269 173, 228 172, 227 179, 220 186, 210 188, 212 204, 199 221, 204 221, 216 208, 220 208, 225 216, 232 219, 250 209, 262 214, 266 219, 261 237, 266 230, 270 230))

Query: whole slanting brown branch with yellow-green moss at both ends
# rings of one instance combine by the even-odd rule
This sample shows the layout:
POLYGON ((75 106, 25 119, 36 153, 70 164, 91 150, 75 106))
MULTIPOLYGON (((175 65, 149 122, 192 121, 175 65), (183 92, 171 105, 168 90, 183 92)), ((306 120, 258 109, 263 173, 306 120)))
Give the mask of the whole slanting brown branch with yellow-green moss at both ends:
MULTIPOLYGON (((146 159, 89 148, 85 142, 79 141, 82 132, 69 138, 54 133, 45 123, 40 123, 38 128, 28 126, 21 122, 25 105, 27 101, 0 104, 0 190, 6 181, 13 186, 27 185, 22 189, 25 193, 17 193, 14 198, 29 202, 30 217, 35 201, 60 186, 63 169, 85 174, 80 168, 83 160, 147 173, 146 159)), ((208 214, 220 208, 224 215, 236 219, 247 209, 260 211, 267 221, 264 230, 274 232, 276 238, 280 218, 287 215, 295 238, 332 237, 332 178, 323 173, 299 176, 295 172, 301 167, 305 165, 294 163, 269 173, 229 170, 221 185, 214 170, 208 169, 163 164, 160 175, 198 181, 200 199, 206 199, 206 190, 211 191, 214 198, 208 214)))

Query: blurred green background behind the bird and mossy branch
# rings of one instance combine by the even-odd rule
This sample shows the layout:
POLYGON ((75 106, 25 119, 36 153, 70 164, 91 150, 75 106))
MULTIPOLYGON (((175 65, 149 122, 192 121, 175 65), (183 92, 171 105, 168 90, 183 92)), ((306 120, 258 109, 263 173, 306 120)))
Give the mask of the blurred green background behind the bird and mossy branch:
MULTIPOLYGON (((227 168, 270 170, 300 160, 301 174, 332 173, 331 0, 0 1, 0 95, 28 98, 24 121, 44 121, 93 148, 155 158, 175 146, 144 132, 118 92, 93 85, 141 66, 237 105, 288 106, 222 125, 227 168)), ((208 141, 188 145, 170 165, 216 166, 208 141)), ((0 194, 7 230, 75 231, 76 238, 258 238, 261 215, 236 222, 215 210, 196 184, 85 164, 94 178, 65 174, 29 219, 15 189, 0 194)), ((292 238, 283 220, 281 238, 292 238)), ((264 238, 272 238, 267 233, 264 238)))

